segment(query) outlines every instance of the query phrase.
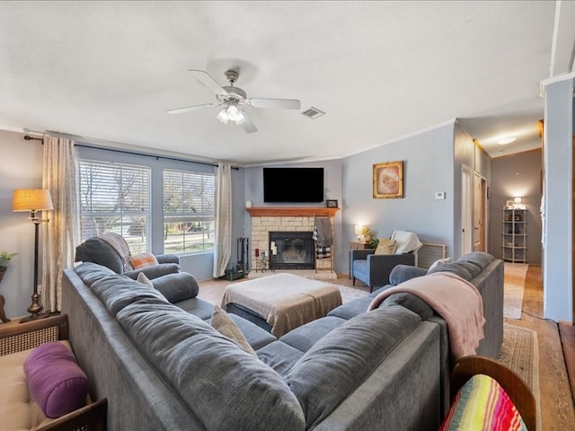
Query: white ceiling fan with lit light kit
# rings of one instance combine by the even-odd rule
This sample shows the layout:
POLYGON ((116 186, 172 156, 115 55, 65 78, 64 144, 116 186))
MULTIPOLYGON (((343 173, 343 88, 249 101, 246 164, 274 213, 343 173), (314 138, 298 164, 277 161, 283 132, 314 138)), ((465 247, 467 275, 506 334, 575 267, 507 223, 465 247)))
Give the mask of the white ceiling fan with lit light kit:
POLYGON ((190 69, 193 75, 201 84, 206 85, 212 92, 216 93, 217 102, 204 103, 201 105, 186 106, 177 108, 175 110, 167 110, 169 114, 181 114, 183 112, 190 112, 190 110, 200 110, 203 108, 212 108, 216 106, 224 106, 223 110, 217 114, 217 119, 227 124, 229 121, 235 124, 241 124, 246 133, 253 133, 258 129, 254 126, 252 119, 248 113, 243 110, 243 107, 250 106, 252 108, 279 108, 283 110, 299 110, 301 103, 296 99, 251 99, 247 97, 247 93, 239 87, 234 87, 234 83, 239 77, 239 73, 235 70, 228 70, 226 72, 226 79, 230 83, 224 87, 217 84, 216 80, 212 78, 208 72, 203 70, 190 69))

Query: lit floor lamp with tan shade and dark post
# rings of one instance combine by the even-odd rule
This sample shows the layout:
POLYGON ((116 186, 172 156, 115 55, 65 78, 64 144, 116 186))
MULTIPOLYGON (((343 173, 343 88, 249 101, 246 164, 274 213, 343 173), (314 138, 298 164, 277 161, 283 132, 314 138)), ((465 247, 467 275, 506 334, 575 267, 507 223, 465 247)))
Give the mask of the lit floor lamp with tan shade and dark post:
MULTIPOLYGON (((40 304, 40 295, 38 294, 38 234, 41 222, 49 222, 49 219, 41 219, 37 216, 38 211, 54 209, 50 192, 46 189, 16 189, 13 192, 12 210, 13 211, 30 211, 30 218, 34 224, 34 293, 32 294, 32 303, 28 307, 30 316, 22 319, 23 321, 32 321, 45 317, 40 314, 42 305, 40 304)), ((48 314, 46 314, 48 316, 48 314)))

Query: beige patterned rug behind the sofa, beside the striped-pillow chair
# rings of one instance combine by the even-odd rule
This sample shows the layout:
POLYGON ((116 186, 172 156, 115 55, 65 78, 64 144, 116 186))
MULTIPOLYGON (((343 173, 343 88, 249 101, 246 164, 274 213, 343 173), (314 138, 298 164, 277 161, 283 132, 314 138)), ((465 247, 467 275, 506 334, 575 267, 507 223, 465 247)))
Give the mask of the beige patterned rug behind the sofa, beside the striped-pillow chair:
POLYGON ((504 323, 499 361, 517 373, 533 392, 537 406, 537 429, 541 429, 539 346, 535 330, 504 323))

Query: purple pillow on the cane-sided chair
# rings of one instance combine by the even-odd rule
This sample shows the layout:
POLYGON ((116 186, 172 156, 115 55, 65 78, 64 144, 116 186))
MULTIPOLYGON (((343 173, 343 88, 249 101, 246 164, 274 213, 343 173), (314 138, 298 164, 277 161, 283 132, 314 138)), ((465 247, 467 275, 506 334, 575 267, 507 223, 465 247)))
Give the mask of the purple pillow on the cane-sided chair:
POLYGON ((70 349, 61 343, 34 348, 24 361, 32 400, 48 418, 59 418, 84 406, 88 379, 70 349))

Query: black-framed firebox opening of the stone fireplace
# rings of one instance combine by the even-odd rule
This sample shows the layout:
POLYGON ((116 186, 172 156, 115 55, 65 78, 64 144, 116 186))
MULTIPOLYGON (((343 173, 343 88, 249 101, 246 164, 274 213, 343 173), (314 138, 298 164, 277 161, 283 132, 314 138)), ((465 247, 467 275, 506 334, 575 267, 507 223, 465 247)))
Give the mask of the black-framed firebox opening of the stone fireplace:
POLYGON ((270 269, 314 269, 313 232, 270 232, 270 269))

